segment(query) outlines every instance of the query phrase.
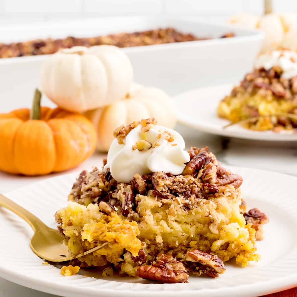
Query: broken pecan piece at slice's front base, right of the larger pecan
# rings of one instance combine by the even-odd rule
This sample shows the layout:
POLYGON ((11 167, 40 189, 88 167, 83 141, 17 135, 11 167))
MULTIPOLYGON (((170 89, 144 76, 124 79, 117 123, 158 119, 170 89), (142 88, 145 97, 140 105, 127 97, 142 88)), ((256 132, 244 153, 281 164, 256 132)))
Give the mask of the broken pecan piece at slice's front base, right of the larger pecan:
POLYGON ((185 260, 189 271, 197 275, 204 273, 215 278, 226 270, 223 261, 217 255, 201 252, 198 249, 187 251, 185 260))

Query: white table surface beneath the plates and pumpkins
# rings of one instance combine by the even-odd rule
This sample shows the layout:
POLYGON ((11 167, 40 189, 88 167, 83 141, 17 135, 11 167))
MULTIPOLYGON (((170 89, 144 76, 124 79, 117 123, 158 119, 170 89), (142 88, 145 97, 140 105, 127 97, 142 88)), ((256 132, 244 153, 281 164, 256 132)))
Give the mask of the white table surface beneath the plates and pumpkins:
MULTIPOLYGON (((251 140, 226 140, 216 135, 198 132, 192 128, 178 125, 176 130, 181 133, 189 146, 209 146, 217 158, 228 165, 260 168, 297 175, 297 143, 265 143, 251 140)), ((80 173, 82 170, 90 170, 92 166, 102 166, 105 154, 95 153, 90 159, 75 169, 66 173, 80 173)), ((6 193, 17 187, 56 176, 63 173, 51 174, 41 177, 13 176, 0 172, 0 192, 6 193)), ((65 198, 66 201, 66 198, 65 198)), ((29 243, 28 243, 29 244, 29 243)), ((0 297, 50 297, 47 293, 31 290, 16 285, 0 278, 0 297)))

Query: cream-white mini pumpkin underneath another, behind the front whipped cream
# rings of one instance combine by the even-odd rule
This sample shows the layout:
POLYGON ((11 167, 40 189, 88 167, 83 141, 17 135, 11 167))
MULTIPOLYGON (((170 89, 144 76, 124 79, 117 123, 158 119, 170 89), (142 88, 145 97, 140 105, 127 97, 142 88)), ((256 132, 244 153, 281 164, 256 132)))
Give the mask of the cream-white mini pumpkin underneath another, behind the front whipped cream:
POLYGON ((164 91, 152 87, 132 85, 125 99, 105 108, 90 110, 85 115, 97 129, 97 149, 108 151, 113 130, 121 124, 154 117, 158 125, 174 128, 177 121, 176 104, 164 91))

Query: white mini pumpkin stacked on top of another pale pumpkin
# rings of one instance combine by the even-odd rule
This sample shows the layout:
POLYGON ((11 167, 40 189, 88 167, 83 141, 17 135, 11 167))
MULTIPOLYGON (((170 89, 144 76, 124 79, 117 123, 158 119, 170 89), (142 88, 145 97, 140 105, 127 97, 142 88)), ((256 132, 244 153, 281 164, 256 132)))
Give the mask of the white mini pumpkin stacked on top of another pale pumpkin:
POLYGON ((120 100, 128 93, 132 79, 128 57, 113 45, 63 49, 41 70, 42 91, 59 107, 74 112, 120 100))

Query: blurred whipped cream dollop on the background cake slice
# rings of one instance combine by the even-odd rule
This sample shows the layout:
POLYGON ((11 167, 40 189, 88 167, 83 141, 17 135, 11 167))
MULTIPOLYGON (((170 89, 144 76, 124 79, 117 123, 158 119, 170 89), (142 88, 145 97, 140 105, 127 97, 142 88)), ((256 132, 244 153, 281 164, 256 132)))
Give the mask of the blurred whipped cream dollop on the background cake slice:
POLYGON ((283 72, 281 77, 290 79, 297 75, 297 53, 291 50, 273 50, 259 56, 255 62, 255 68, 269 70, 273 66, 279 66, 283 72))

